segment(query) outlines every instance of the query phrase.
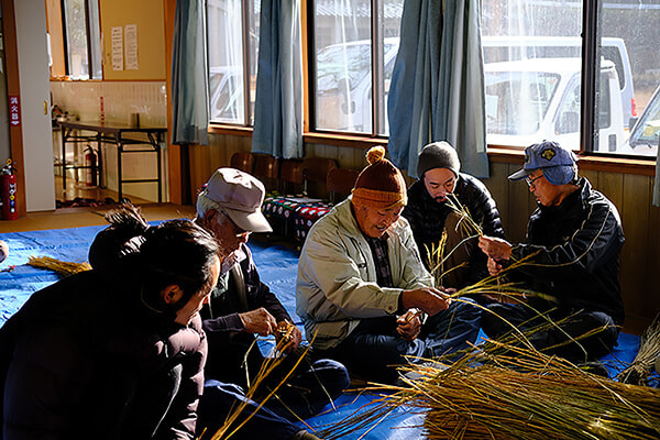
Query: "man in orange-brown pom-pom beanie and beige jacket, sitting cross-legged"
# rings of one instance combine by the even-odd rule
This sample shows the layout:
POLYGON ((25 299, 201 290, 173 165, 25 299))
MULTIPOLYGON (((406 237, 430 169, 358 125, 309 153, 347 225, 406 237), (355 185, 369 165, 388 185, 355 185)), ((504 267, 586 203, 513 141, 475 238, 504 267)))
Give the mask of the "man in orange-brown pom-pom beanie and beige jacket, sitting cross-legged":
POLYGON ((296 311, 315 352, 393 383, 394 365, 474 343, 481 312, 452 302, 421 263, 406 219, 402 173, 367 152, 353 194, 315 223, 298 263, 296 311))

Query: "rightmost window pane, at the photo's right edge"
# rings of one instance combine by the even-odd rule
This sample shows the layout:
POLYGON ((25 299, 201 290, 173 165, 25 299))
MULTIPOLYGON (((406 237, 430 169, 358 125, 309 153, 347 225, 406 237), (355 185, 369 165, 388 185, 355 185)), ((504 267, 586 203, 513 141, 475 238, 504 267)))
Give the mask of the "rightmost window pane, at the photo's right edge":
MULTIPOLYGON (((602 110, 598 118, 601 140, 596 152, 656 157, 658 133, 652 133, 657 121, 657 90, 660 86, 660 3, 657 0, 600 1, 601 61, 603 66, 613 63, 618 88, 610 87, 609 100, 601 96, 600 106, 609 103, 610 127, 603 140, 605 121, 602 110), (620 106, 615 105, 620 100, 620 106), (653 106, 656 108, 653 108, 653 106), (653 117, 653 112, 656 116, 653 117), (642 123, 642 120, 646 121, 642 123), (619 123, 620 121, 620 123, 619 123), (639 122, 639 127, 635 125, 639 122), (619 132, 623 134, 619 135, 619 132)), ((601 68, 603 70, 603 67, 601 68)), ((601 91, 604 91, 601 85, 601 91)))

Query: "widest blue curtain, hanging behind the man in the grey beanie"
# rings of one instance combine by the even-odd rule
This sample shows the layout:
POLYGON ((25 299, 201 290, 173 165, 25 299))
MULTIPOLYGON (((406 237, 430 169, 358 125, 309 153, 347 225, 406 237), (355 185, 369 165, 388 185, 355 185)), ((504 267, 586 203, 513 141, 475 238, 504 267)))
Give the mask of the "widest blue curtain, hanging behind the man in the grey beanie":
POLYGON ((448 141, 462 170, 488 177, 480 0, 406 1, 387 101, 389 155, 408 175, 429 142, 448 141))

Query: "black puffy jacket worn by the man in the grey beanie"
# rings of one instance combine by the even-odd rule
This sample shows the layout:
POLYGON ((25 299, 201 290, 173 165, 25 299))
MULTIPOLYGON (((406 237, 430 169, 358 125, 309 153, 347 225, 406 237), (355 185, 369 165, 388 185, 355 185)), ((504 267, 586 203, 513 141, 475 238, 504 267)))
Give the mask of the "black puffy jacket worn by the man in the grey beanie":
MULTIPOLYGON (((460 173, 453 194, 461 205, 468 208, 472 219, 481 224, 485 235, 504 238, 495 200, 481 180, 460 173)), ((427 268, 429 262, 427 248, 431 249, 432 245, 437 246, 440 243, 444 221, 450 212, 452 208, 446 201, 436 201, 427 191, 422 180, 417 180, 408 188, 408 205, 404 208, 403 216, 410 223, 415 242, 427 268)), ((487 276, 486 260, 486 255, 475 246, 465 283, 455 287, 471 285, 487 276)))

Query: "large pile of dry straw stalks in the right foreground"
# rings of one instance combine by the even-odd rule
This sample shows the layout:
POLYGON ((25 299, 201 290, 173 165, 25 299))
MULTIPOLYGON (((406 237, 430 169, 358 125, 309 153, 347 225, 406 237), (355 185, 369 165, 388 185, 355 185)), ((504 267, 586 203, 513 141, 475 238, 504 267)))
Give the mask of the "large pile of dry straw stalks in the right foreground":
POLYGON ((428 439, 660 438, 660 389, 617 383, 527 348, 491 342, 449 364, 400 369, 406 386, 374 386, 374 408, 322 432, 339 439, 399 407, 426 415, 428 439))

